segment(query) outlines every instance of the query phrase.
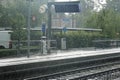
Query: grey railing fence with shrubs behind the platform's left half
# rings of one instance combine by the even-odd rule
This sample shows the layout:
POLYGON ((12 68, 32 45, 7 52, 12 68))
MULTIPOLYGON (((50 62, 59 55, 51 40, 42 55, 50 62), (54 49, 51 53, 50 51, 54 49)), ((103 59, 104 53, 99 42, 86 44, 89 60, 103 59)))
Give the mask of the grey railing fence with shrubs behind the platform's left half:
MULTIPOLYGON (((50 41, 50 48, 52 51, 57 49, 56 40, 50 41)), ((21 57, 27 55, 28 45, 27 40, 11 41, 12 48, 0 49, 0 57, 21 57)), ((30 40, 30 55, 42 55, 42 40, 30 40)))

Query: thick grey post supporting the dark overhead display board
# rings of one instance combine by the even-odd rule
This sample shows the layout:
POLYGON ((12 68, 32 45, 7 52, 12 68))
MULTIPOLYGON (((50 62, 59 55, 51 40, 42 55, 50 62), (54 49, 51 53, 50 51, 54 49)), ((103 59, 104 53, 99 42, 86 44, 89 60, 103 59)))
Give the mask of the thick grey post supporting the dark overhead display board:
POLYGON ((48 54, 50 53, 50 40, 51 40, 51 3, 48 3, 48 33, 47 33, 47 38, 48 38, 48 54))

